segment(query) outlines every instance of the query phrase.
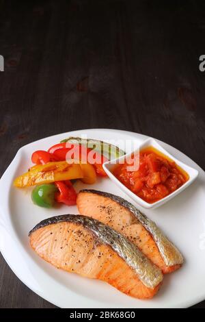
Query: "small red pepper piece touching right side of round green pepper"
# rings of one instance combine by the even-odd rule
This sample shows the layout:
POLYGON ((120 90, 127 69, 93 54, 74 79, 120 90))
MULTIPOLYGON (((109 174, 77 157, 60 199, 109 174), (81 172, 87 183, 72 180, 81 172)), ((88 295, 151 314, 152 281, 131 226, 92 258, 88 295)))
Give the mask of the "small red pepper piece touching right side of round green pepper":
POLYGON ((67 206, 76 205, 77 193, 69 180, 64 182, 57 181, 55 182, 55 186, 59 190, 59 193, 55 194, 55 200, 57 202, 65 203, 67 206))

